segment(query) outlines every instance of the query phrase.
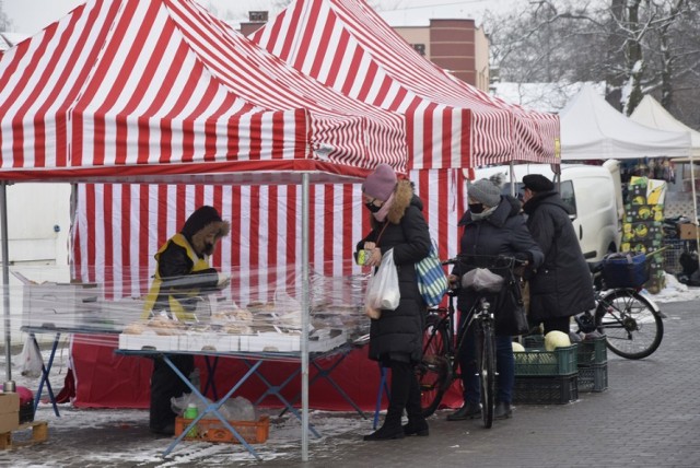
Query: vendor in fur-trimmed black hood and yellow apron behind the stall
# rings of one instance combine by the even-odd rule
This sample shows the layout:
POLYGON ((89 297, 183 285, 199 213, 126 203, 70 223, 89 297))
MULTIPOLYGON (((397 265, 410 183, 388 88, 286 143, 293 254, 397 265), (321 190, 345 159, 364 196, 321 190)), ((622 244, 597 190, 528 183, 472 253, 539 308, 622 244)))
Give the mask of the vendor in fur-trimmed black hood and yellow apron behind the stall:
MULTIPOLYGON (((159 320, 195 320, 200 295, 215 292, 229 284, 229 277, 209 266, 218 242, 231 226, 213 207, 203 206, 189 215, 179 233, 171 237, 155 254, 158 267, 143 307, 142 318, 159 320)), ((195 370, 191 354, 173 354, 168 359, 189 376, 195 370)), ((171 398, 189 389, 162 359, 153 362, 151 375, 151 432, 175 433, 175 413, 171 398)))

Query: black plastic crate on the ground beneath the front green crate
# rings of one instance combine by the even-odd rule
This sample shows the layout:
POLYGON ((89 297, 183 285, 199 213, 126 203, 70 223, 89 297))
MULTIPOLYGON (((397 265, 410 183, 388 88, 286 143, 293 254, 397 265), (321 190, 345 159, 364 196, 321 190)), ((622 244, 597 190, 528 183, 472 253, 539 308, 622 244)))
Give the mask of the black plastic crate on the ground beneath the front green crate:
POLYGON ((538 377, 515 376, 513 402, 564 405, 579 399, 579 374, 538 377))

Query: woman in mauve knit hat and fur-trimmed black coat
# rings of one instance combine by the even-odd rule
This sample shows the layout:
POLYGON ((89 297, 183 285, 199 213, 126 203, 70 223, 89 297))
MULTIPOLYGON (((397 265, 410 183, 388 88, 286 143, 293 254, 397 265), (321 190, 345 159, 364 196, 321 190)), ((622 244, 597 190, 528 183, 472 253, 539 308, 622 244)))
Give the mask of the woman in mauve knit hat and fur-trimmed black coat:
POLYGON ((422 358, 425 319, 425 304, 418 291, 415 265, 429 255, 431 246, 422 214, 423 204, 413 194, 412 184, 409 180, 397 182, 394 169, 386 164, 377 166, 362 189, 364 204, 372 212, 372 231, 358 243, 357 248, 368 253, 364 265, 370 267, 378 267, 382 256, 390 249, 400 291, 398 307, 378 311, 380 318, 373 318, 370 326, 370 359, 392 370, 392 389, 384 424, 365 435, 364 440, 428 435, 415 372, 422 358), (408 424, 401 426, 404 410, 408 414, 408 424))

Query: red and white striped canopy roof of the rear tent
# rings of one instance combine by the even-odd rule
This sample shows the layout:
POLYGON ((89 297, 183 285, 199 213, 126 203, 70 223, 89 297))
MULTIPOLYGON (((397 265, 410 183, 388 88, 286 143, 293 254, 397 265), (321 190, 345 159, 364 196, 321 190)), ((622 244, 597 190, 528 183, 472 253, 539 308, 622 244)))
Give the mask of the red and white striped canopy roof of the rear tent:
POLYGON ((409 168, 558 162, 556 115, 527 112, 451 77, 363 0, 295 0, 252 38, 343 94, 406 115, 409 168))

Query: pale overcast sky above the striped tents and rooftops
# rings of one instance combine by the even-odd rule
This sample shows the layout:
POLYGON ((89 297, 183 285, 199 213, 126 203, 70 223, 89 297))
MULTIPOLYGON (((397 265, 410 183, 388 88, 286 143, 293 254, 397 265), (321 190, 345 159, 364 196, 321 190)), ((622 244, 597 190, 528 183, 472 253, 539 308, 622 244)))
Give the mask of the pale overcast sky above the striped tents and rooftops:
MULTIPOLYGON (((220 17, 244 20, 248 11, 278 12, 273 0, 198 0, 205 7, 212 5, 220 17)), ((415 25, 433 17, 480 19, 488 8, 501 10, 518 0, 380 0, 383 16, 394 26, 415 25)), ((68 14, 84 0, 3 0, 4 12, 12 20, 14 33, 33 35, 46 25, 68 14)), ((427 23, 425 23, 427 24, 427 23)))

